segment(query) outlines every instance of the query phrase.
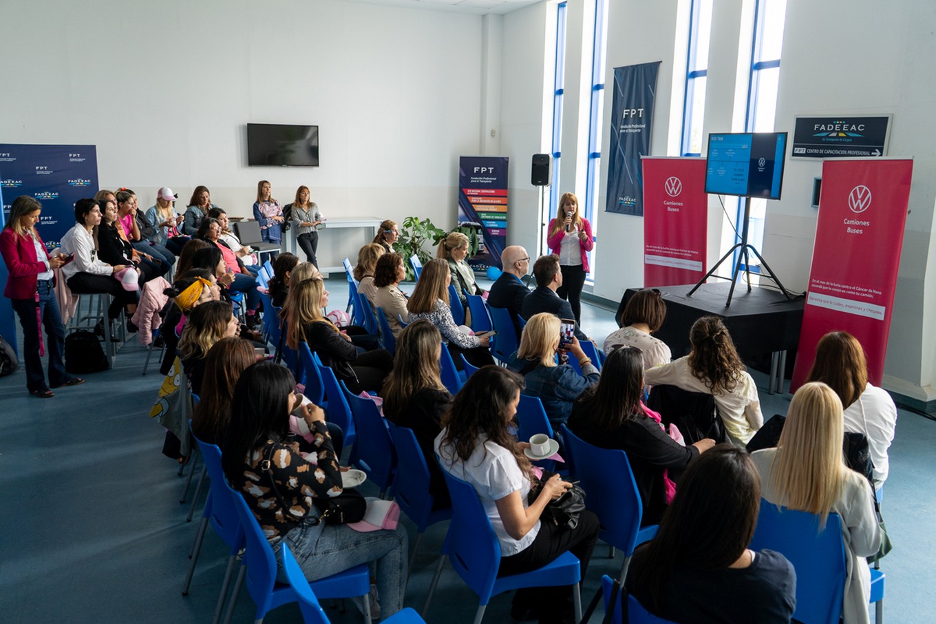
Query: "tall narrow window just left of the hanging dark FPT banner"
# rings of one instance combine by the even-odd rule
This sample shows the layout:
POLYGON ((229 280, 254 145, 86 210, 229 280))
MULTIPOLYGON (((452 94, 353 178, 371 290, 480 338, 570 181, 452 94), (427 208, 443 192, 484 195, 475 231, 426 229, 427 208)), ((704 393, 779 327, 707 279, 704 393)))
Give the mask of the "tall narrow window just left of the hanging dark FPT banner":
MULTIPOLYGON (((605 111, 605 58, 607 56, 607 0, 595 0, 594 33, 592 37, 592 97, 589 107, 588 163, 586 169, 585 206, 583 215, 597 231, 598 181, 601 177, 601 131, 605 111)), ((596 237, 597 238, 597 237, 596 237)), ((591 252, 590 260, 591 260, 591 252)), ((586 277, 594 281, 595 262, 586 277)))

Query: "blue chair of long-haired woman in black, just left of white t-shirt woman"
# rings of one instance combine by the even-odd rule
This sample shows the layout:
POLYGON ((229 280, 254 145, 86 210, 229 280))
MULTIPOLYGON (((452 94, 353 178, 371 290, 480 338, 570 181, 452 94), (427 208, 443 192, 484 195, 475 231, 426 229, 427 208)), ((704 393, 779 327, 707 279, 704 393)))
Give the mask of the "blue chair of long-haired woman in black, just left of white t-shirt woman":
MULTIPOLYGON (((390 424, 390 438, 397 452, 397 475, 393 482, 393 499, 400 505, 403 513, 416 525, 416 544, 409 557, 409 569, 413 570, 413 560, 419 550, 423 531, 437 522, 450 520, 451 507, 432 511, 435 499, 429 493, 431 480, 426 457, 419 448, 416 434, 412 429, 390 424)), ((408 573, 408 572, 407 572, 408 573)))

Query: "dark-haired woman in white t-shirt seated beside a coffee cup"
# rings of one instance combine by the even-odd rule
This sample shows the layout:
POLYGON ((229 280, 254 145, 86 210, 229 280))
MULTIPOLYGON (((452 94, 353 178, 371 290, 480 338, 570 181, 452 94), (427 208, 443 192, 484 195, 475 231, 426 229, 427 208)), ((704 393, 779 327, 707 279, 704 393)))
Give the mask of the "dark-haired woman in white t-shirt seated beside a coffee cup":
MULTIPOLYGON (((569 551, 578 557, 584 578, 598 539, 598 519, 585 510, 574 528, 540 521, 548 502, 572 483, 553 475, 532 502, 528 499, 537 479, 523 453, 530 443, 518 442, 508 430, 522 389, 523 378, 504 368, 477 371, 455 395, 435 451, 442 469, 474 486, 501 546, 499 575, 535 570, 569 551)), ((528 611, 540 621, 574 622, 571 587, 520 589, 511 615, 526 619, 528 611)))

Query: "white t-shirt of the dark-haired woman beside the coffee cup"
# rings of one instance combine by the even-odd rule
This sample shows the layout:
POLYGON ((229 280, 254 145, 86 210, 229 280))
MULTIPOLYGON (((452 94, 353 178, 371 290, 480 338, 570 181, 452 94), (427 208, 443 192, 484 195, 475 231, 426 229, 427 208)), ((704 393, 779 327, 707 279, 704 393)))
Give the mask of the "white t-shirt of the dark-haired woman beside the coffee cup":
POLYGON ((495 501, 518 491, 520 498, 523 499, 524 509, 527 507, 526 498, 530 493, 530 480, 520 470, 517 458, 503 446, 485 440, 484 444, 475 447, 475 452, 468 458, 468 461, 462 462, 458 455, 449 452, 450 447, 441 448, 442 438, 445 435, 446 429, 443 429, 442 433, 435 438, 434 443, 435 453, 439 455, 442 469, 474 486, 484 506, 484 511, 488 514, 490 525, 494 527, 497 541, 501 542, 501 557, 516 555, 533 543, 540 526, 537 520, 536 525, 526 535, 515 540, 507 534, 501 514, 497 511, 495 501), (452 458, 455 459, 454 462, 452 458))

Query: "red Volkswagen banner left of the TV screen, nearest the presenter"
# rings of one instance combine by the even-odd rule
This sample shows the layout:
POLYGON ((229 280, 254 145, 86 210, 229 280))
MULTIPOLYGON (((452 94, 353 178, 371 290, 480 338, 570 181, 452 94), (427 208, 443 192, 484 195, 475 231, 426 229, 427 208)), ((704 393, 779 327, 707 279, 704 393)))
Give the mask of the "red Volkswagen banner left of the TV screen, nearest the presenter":
POLYGON ((706 159, 644 156, 642 164, 644 286, 695 284, 708 251, 706 159))

